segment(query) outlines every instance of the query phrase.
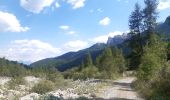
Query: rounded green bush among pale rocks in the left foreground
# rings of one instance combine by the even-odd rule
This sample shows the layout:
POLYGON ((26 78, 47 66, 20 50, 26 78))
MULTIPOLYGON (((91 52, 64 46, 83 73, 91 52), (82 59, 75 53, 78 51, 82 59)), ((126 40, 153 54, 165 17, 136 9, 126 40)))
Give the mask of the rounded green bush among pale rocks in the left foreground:
POLYGON ((39 94, 45 94, 54 90, 54 88, 55 87, 53 82, 49 80, 42 80, 32 88, 32 91, 39 94))

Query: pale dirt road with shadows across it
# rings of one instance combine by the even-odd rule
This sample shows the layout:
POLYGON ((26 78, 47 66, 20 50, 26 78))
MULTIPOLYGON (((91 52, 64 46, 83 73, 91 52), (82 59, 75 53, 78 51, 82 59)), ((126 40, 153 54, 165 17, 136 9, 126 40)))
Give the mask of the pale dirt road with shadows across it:
POLYGON ((98 97, 105 100, 143 100, 131 87, 134 80, 134 77, 118 79, 113 82, 112 86, 102 88, 98 97))

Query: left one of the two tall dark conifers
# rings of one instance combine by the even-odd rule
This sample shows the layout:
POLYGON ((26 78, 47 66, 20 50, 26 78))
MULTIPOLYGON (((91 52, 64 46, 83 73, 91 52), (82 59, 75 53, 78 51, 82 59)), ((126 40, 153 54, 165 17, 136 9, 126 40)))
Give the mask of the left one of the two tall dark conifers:
POLYGON ((138 3, 129 17, 129 29, 131 38, 129 46, 131 48, 129 69, 136 69, 140 64, 140 58, 143 54, 142 32, 143 32, 143 13, 138 3))

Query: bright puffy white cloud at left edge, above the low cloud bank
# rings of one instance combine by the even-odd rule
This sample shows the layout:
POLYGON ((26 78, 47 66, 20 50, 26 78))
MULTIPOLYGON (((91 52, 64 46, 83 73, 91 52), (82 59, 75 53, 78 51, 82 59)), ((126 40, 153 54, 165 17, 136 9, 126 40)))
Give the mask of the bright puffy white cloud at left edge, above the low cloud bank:
POLYGON ((0 11, 0 32, 25 32, 28 27, 22 27, 15 15, 0 11))

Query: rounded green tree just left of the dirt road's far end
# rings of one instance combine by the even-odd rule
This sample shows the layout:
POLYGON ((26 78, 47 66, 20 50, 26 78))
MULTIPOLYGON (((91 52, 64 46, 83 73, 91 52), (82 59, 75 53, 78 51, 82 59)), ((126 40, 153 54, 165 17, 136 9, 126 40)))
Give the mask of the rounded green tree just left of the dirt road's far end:
POLYGON ((113 47, 106 48, 105 51, 96 59, 97 67, 102 78, 113 79, 118 74, 126 70, 125 60, 122 52, 113 47))

